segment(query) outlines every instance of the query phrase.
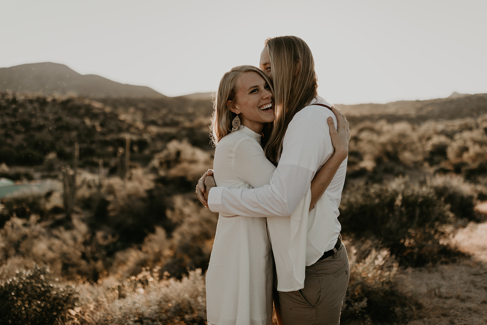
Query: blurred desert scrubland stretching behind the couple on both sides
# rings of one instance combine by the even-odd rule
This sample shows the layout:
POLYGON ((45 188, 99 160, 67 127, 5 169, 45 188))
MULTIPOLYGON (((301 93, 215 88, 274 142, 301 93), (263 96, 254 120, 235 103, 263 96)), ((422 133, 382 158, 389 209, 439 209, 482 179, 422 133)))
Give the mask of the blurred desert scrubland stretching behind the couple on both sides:
MULTIPOLYGON (((0 177, 58 184, 1 199, 2 322, 206 324, 218 217, 194 187, 212 165, 211 111, 209 100, 184 97, 0 94, 0 177), (66 218, 61 168, 73 165, 75 144, 66 218)), ((352 139, 339 220, 351 274, 341 323, 403 324, 421 306, 396 271, 462 258, 448 239, 486 219, 475 206, 487 200, 487 96, 344 113, 352 139)))

